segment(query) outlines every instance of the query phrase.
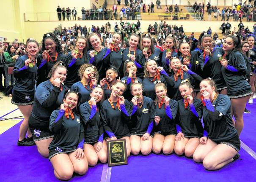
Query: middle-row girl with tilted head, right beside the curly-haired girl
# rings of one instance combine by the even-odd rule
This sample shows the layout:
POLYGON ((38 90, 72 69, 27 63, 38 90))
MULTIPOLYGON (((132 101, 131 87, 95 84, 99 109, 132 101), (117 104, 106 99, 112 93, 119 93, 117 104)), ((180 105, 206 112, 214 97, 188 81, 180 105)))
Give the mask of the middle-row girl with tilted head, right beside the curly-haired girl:
POLYGON ((120 81, 120 77, 117 80, 118 77, 118 71, 116 67, 111 67, 106 72, 106 78, 102 78, 102 80, 99 81, 100 86, 104 88, 104 94, 105 98, 109 98, 111 95, 111 87, 117 82, 120 81))

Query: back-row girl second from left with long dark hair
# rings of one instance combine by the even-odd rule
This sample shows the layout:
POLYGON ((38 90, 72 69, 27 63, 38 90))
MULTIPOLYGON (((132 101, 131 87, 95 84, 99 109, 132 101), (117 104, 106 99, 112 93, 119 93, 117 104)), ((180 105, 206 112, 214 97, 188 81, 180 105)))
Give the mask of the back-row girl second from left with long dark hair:
POLYGON ((36 85, 47 80, 47 76, 52 66, 59 61, 64 62, 67 66, 67 56, 63 54, 61 43, 53 33, 46 33, 42 40, 42 54, 38 57, 38 78, 36 85))

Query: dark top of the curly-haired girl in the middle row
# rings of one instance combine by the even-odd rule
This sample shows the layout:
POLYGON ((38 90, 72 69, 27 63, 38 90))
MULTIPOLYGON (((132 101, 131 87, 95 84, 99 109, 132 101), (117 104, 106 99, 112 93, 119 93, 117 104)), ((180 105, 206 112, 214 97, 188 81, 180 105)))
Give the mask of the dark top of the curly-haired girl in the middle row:
POLYGON ((85 87, 83 86, 83 83, 79 81, 77 83, 74 83, 70 88, 71 91, 78 92, 81 94, 81 104, 90 100, 91 88, 89 85, 85 85, 85 87))

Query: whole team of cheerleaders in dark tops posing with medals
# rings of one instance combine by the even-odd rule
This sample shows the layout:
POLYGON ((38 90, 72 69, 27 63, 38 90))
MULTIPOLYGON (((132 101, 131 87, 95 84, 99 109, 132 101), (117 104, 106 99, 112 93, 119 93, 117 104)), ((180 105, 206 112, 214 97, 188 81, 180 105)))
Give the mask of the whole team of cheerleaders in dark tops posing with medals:
POLYGON ((77 37, 67 55, 52 33, 44 35, 41 54, 28 40, 28 54, 14 67, 11 102, 25 118, 19 142, 33 136, 58 179, 106 163, 106 140, 114 139, 126 140, 128 156, 174 151, 208 170, 239 158, 243 111, 253 94, 246 78, 254 37, 241 46, 239 36, 229 35, 223 48, 213 48, 212 37, 202 33, 202 51, 173 35, 164 51, 149 34, 133 33, 125 49, 122 40, 115 32, 102 48, 91 33, 77 37))

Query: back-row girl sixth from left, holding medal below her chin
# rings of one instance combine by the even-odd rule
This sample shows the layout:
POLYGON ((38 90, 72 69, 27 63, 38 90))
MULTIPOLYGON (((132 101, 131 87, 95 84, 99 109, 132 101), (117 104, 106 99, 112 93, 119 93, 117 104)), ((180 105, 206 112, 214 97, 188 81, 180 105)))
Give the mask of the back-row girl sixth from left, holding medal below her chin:
POLYGON ((143 77, 143 67, 145 62, 143 62, 143 54, 140 51, 140 33, 132 33, 129 39, 129 48, 123 50, 123 63, 127 59, 131 59, 135 62, 137 69, 137 76, 143 77))

